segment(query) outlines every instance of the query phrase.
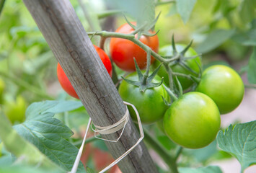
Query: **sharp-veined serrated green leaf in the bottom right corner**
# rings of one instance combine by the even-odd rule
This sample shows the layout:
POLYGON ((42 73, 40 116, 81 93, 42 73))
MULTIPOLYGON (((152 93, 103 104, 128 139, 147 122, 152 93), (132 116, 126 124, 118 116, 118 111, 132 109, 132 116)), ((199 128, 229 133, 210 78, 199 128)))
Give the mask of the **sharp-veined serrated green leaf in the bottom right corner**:
POLYGON ((256 121, 229 125, 223 133, 217 136, 219 148, 235 156, 244 169, 256 164, 256 121))

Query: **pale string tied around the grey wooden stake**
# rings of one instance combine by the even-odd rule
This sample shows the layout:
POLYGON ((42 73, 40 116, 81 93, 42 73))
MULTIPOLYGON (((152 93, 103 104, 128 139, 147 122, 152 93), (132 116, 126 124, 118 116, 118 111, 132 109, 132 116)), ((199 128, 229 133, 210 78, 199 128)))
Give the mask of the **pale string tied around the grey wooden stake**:
MULTIPOLYGON (((128 102, 123 102, 125 105, 129 105, 131 107, 133 107, 133 110, 136 112, 136 116, 137 116, 137 120, 138 120, 138 128, 139 128, 139 131, 140 131, 140 138, 138 138, 138 141, 130 148, 128 149, 128 151, 126 151, 122 156, 118 157, 118 159, 116 159, 115 161, 113 161, 110 165, 108 165, 107 167, 105 167, 105 169, 102 169, 102 171, 100 171, 99 173, 103 173, 103 172, 106 172, 108 169, 110 169, 111 167, 115 166, 115 164, 118 164, 119 161, 121 161, 125 156, 127 156, 131 151, 133 151, 133 148, 135 148, 136 146, 138 146, 139 143, 141 143, 141 141, 143 140, 144 138, 144 131, 143 131, 143 128, 142 128, 142 124, 141 124, 141 118, 138 114, 138 111, 136 109, 136 107, 134 105, 132 105, 131 103, 128 103, 128 102)), ((69 173, 76 173, 76 170, 78 168, 78 165, 79 165, 79 161, 80 161, 80 158, 81 158, 81 154, 82 154, 82 151, 83 151, 83 148, 84 148, 84 142, 87 138, 87 133, 89 131, 89 127, 91 126, 92 130, 94 130, 94 136, 95 138, 99 138, 96 136, 96 133, 100 133, 102 135, 108 135, 108 134, 112 134, 112 133, 115 133, 117 132, 118 130, 122 130, 122 133, 120 133, 120 136, 116 139, 116 140, 108 140, 108 139, 105 139, 105 138, 99 138, 101 140, 104 140, 104 141, 109 141, 109 142, 118 142, 120 137, 123 135, 123 131, 125 129, 125 125, 128 123, 129 121, 129 111, 128 111, 128 108, 126 106, 126 111, 125 111, 125 115, 123 115, 123 117, 117 122, 117 123, 114 123, 112 125, 108 125, 108 126, 105 126, 105 127, 101 127, 101 126, 98 126, 98 125, 92 125, 92 119, 91 117, 89 118, 89 122, 88 122, 88 125, 87 125, 87 130, 85 132, 85 135, 84 135, 84 140, 81 144, 81 147, 79 148, 79 152, 76 156, 76 160, 74 162, 74 165, 71 169, 71 172, 69 173), (94 128, 92 127, 94 126, 94 128)))

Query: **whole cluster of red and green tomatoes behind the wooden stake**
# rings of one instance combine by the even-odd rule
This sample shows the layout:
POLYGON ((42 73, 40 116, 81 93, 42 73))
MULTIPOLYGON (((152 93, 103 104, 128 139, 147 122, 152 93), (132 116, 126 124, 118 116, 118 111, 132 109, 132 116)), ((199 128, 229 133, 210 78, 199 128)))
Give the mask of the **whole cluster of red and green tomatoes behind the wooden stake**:
MULTIPOLYGON (((133 22, 132 25, 136 23, 133 22)), ((116 30, 125 34, 131 34, 133 31, 133 27, 128 24, 116 30)), ((148 32, 154 34, 151 30, 148 32)), ((136 34, 135 37, 138 35, 136 34)), ((157 35, 151 37, 142 35, 139 40, 155 53, 158 52, 157 35)), ((104 50, 96 46, 94 48, 111 76, 110 59, 104 50)), ((232 68, 220 65, 210 66, 201 74, 201 59, 190 46, 166 45, 159 50, 159 55, 163 58, 164 66, 159 67, 161 62, 151 57, 151 63, 154 63, 153 69, 156 71, 151 72, 154 74, 152 75, 154 79, 152 77, 147 81, 146 79, 151 76, 148 74, 143 76, 138 69, 146 67, 146 51, 131 40, 111 38, 112 61, 123 71, 137 71, 126 76, 121 82, 118 88, 120 97, 136 106, 142 123, 158 122, 164 133, 178 145, 186 148, 207 146, 216 138, 220 129, 220 115, 231 112, 242 102, 244 95, 242 79, 232 68), (168 61, 173 57, 177 58, 168 61), (171 76, 167 73, 167 69, 171 69, 171 76), (159 76, 155 76, 156 73, 159 76), (163 84, 161 77, 164 79, 163 84), (169 81, 172 81, 173 86, 170 86, 169 81), (169 89, 166 89, 167 86, 169 89)), ((63 89, 71 96, 79 98, 59 64, 57 74, 63 89)), ((130 108, 129 111, 136 121, 135 112, 130 108)))

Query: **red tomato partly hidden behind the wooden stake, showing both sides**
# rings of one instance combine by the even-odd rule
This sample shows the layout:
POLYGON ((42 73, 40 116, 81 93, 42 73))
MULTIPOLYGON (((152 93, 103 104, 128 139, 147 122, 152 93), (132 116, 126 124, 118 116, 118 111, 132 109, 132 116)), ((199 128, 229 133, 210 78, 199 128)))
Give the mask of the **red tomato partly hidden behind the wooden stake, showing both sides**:
MULTIPOLYGON (((110 77, 112 76, 112 65, 110 58, 107 56, 104 50, 94 45, 94 48, 96 49, 98 55, 100 56, 100 59, 102 60, 102 63, 104 64, 105 68, 107 69, 108 74, 110 74, 110 77)), ((66 76, 65 72, 61 68, 61 65, 58 63, 57 65, 57 76, 58 81, 60 82, 62 88, 72 97, 75 97, 76 99, 79 99, 78 95, 76 94, 76 91, 74 87, 71 85, 68 77, 66 76)))

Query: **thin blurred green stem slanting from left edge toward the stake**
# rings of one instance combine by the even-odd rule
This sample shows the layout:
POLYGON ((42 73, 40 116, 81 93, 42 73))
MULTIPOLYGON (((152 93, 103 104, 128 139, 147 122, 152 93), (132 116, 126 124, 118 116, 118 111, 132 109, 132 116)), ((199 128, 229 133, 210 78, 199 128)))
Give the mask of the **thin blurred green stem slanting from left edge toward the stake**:
POLYGON ((3 71, 0 71, 0 76, 3 76, 6 79, 9 79, 14 84, 17 84, 17 86, 22 86, 25 89, 27 89, 30 92, 34 92, 40 97, 45 97, 46 99, 54 99, 53 97, 50 97, 48 94, 43 92, 41 89, 38 89, 35 86, 32 86, 31 84, 27 83, 27 81, 23 81, 22 79, 17 78, 16 76, 12 76, 10 74, 6 74, 3 71))

